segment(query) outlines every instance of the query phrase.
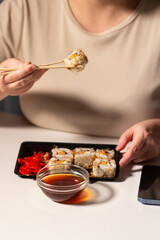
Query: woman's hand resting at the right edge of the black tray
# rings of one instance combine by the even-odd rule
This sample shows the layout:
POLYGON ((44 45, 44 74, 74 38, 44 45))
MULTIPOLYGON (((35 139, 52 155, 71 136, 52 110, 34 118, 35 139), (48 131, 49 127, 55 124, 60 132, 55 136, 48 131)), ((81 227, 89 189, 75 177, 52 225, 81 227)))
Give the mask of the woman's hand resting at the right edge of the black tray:
POLYGON ((125 131, 119 139, 117 151, 122 151, 131 142, 120 166, 129 162, 140 163, 160 155, 160 119, 139 122, 125 131))

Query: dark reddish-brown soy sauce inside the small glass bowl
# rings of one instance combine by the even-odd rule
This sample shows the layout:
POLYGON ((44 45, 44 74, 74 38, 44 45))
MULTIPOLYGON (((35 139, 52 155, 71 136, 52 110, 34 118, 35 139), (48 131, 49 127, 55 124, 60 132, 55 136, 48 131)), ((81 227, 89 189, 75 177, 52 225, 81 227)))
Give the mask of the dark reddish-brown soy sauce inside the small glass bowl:
POLYGON ((82 183, 84 179, 75 174, 54 174, 44 177, 42 181, 50 185, 48 190, 42 189, 47 197, 51 198, 55 202, 65 202, 82 192, 83 189, 79 190, 78 186, 76 188, 76 184, 82 183), (70 191, 73 187, 74 190, 70 191), (59 189, 61 191, 59 191, 59 189), (66 191, 66 189, 69 191, 66 191))

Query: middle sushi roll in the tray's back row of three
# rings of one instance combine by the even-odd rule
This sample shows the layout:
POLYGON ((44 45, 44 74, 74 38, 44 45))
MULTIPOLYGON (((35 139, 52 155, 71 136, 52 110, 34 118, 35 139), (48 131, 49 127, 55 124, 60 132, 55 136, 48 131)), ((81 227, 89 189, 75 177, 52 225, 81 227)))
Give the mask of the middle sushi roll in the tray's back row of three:
POLYGON ((75 148, 74 164, 91 169, 95 159, 95 150, 93 148, 75 148))

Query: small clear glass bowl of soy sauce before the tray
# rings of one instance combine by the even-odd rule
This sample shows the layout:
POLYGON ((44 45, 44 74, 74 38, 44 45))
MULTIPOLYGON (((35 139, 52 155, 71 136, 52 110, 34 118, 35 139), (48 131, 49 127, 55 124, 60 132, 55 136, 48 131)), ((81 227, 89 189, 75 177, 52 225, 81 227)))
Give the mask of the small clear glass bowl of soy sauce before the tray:
POLYGON ((55 202, 65 203, 78 196, 88 185, 89 173, 74 164, 52 164, 36 176, 42 192, 55 202))

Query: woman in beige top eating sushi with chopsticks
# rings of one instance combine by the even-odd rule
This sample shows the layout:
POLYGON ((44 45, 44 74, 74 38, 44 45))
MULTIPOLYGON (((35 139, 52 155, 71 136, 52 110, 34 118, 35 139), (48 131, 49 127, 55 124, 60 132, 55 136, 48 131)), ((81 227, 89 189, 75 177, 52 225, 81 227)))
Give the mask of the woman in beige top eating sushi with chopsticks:
POLYGON ((1 66, 22 68, 0 78, 1 99, 26 92, 20 96, 22 111, 41 127, 121 135, 117 151, 132 141, 121 166, 159 156, 159 1, 5 1, 1 66), (77 75, 43 75, 29 63, 61 60, 77 47, 89 59, 77 75))

